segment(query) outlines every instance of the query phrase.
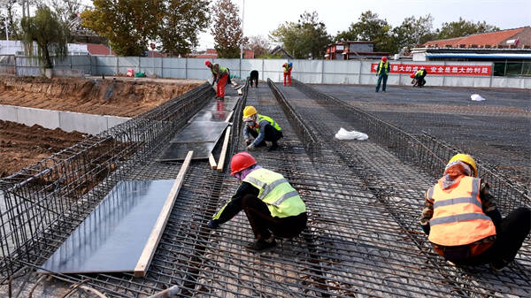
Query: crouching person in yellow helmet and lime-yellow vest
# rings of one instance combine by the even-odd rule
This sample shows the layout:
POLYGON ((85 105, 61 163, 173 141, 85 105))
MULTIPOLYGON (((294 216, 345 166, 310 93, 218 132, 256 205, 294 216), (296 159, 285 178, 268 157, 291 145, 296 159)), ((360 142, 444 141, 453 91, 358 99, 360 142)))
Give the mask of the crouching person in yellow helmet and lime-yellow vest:
POLYGON ((243 138, 248 150, 266 146, 266 141, 272 142, 269 151, 279 148, 277 141, 283 137, 282 128, 273 118, 258 114, 253 106, 246 106, 243 109, 242 120, 245 122, 243 138), (251 136, 255 139, 254 141, 250 140, 251 136))

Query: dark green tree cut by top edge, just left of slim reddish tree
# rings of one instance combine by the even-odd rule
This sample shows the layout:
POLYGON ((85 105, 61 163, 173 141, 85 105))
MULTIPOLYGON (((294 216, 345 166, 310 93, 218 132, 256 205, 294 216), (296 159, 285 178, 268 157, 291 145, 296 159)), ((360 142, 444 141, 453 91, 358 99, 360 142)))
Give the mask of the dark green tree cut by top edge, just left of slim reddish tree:
POLYGON ((185 56, 197 46, 199 32, 209 25, 209 4, 207 0, 165 1, 158 41, 166 53, 185 56))

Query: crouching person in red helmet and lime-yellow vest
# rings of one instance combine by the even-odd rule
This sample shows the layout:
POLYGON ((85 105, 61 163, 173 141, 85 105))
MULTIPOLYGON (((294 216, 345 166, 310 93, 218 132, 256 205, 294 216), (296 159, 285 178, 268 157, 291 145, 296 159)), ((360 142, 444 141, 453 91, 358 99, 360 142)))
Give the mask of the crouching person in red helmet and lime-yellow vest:
POLYGON ((245 211, 256 241, 247 249, 264 251, 276 245, 274 236, 293 238, 306 227, 306 206, 280 173, 266 170, 247 152, 230 161, 231 175, 242 181, 235 195, 212 220, 212 229, 245 211))

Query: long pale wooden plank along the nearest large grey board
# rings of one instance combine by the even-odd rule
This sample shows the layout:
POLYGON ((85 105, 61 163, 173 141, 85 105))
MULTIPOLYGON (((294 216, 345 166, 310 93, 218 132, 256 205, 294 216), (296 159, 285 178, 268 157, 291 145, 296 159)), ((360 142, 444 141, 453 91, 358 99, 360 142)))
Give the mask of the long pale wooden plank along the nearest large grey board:
POLYGON ((140 259, 136 264, 134 271, 135 278, 144 277, 146 275, 146 271, 148 271, 148 268, 150 267, 151 259, 155 254, 155 249, 158 246, 158 241, 160 241, 160 237, 162 236, 165 225, 168 221, 168 218, 170 217, 175 198, 177 197, 177 195, 179 195, 179 191, 181 190, 181 186, 184 181, 184 175, 188 171, 189 164, 192 160, 193 155, 194 151, 189 151, 186 159, 184 160, 184 163, 182 163, 181 170, 177 174, 177 178, 173 182, 172 190, 166 198, 164 207, 162 208, 162 210, 160 211, 160 215, 158 216, 157 223, 153 227, 153 230, 151 230, 150 238, 148 239, 146 246, 142 250, 142 255, 140 256, 140 259))

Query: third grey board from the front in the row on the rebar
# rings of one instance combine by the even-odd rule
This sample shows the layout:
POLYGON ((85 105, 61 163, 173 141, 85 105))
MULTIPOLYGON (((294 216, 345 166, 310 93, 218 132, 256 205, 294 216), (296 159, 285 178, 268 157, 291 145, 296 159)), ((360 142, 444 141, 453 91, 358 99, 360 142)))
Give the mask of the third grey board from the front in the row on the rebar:
MULTIPOLYGON (((173 143, 218 141, 227 123, 212 121, 194 121, 176 134, 173 143)), ((187 151, 188 152, 188 151, 187 151)))

